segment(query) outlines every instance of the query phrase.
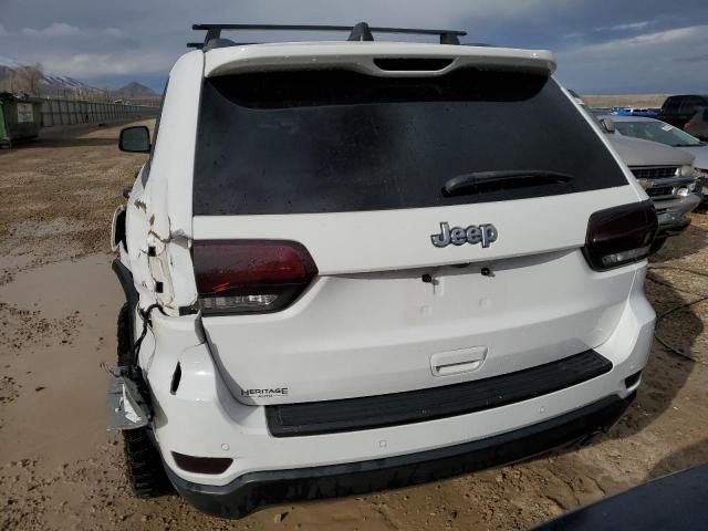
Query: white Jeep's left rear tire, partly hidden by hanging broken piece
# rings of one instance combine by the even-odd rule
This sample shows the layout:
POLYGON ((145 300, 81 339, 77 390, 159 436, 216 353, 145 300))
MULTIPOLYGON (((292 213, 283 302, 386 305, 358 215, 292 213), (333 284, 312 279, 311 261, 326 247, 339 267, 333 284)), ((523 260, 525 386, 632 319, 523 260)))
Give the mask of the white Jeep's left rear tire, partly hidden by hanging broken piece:
MULTIPOLYGON (((118 313, 118 365, 129 365, 131 360, 131 309, 124 304, 118 313)), ((163 459, 153 445, 148 428, 123 431, 125 472, 137 498, 155 498, 174 491, 163 459)))

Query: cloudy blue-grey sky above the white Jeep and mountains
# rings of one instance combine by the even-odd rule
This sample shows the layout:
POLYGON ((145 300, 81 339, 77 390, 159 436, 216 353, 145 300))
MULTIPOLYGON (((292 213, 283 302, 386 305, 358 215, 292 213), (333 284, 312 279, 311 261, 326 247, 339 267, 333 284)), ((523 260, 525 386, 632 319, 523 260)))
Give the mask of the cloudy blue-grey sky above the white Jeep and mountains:
POLYGON ((95 86, 137 81, 160 92, 186 42, 200 40, 195 22, 358 21, 551 50, 558 79, 582 94, 708 93, 708 0, 0 0, 0 55, 95 86))

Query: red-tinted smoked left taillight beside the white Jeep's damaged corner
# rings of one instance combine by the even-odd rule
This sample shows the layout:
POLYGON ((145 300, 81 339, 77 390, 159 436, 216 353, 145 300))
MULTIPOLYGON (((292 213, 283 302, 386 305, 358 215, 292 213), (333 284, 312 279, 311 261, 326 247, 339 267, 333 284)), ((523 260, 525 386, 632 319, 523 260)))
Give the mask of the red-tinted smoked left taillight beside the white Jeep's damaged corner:
POLYGON ((192 257, 205 314, 282 310, 317 274, 312 257, 295 241, 197 240, 192 257))

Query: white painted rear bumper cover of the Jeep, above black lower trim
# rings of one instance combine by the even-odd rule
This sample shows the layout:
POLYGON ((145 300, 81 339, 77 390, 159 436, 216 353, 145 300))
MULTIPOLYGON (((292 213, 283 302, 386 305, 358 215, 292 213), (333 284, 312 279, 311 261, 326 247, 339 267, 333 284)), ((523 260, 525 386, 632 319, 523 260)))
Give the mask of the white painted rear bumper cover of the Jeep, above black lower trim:
MULTIPOLYGON (((635 264, 631 269, 635 274, 634 285, 618 321, 608 337, 593 346, 594 352, 612 363, 608 372, 562 389, 543 389, 539 395, 524 395, 520 402, 494 404, 498 407, 488 409, 454 412, 452 416, 405 425, 322 435, 274 437, 269 429, 267 406, 243 405, 226 386, 223 373, 219 371, 208 345, 204 340, 200 342, 199 337, 195 339, 196 317, 155 314, 155 335, 146 336, 143 350, 146 353, 155 352, 145 375, 153 398, 152 427, 163 460, 173 477, 179 478, 175 480, 176 483, 204 486, 198 489, 199 492, 205 489, 219 492, 227 486, 233 490, 233 486, 248 482, 248 478, 263 477, 263 473, 271 471, 320 470, 323 467, 334 470, 346 464, 360 464, 356 470, 363 462, 389 464, 403 456, 427 455, 471 441, 486 441, 479 444, 487 445, 504 434, 544 426, 605 397, 624 399, 639 385, 636 378, 629 379, 631 383, 627 383, 627 378, 636 375, 647 363, 655 320, 655 313, 643 292, 645 264, 635 264), (154 339, 157 339, 156 344, 154 339), (177 373, 178 378, 175 377, 177 373), (174 388, 173 384, 177 381, 178 388, 174 388), (204 473, 181 467, 173 452, 229 458, 232 462, 221 473, 204 473)), ((585 317, 581 315, 576 319, 585 317)), ((542 326, 531 330, 523 341, 530 345, 535 336, 544 332, 542 326)), ((579 344, 575 352, 582 350, 579 344)), ((573 352, 570 351, 570 354, 573 352)), ((529 366, 522 365, 524 360, 535 360, 538 365, 542 363, 542 356, 543 352, 531 350, 517 354, 519 369, 529 366)), ((548 357, 545 361, 549 361, 548 357)), ((510 459, 514 457, 502 460, 510 459)), ((485 465, 478 465, 481 466, 485 465)), ((352 471, 347 469, 347 473, 352 471)), ((378 488, 379 485, 397 483, 372 482, 371 488, 378 488)))

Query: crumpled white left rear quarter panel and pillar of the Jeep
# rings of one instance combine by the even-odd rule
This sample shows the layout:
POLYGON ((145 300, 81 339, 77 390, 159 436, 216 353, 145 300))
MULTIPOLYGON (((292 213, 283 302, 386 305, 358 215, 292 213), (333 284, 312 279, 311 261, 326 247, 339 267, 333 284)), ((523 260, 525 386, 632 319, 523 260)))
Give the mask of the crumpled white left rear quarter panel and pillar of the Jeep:
MULTIPOLYGON (((145 301, 159 302, 171 315, 197 299, 190 256, 191 187, 202 72, 200 51, 186 53, 173 67, 149 176, 128 206, 134 207, 131 210, 135 217, 144 217, 143 223, 132 226, 138 235, 131 235, 139 239, 131 253, 132 262, 139 262, 137 269, 143 275, 138 277, 148 277, 140 279, 140 294, 147 295, 145 301), (156 290, 158 282, 162 293, 156 290)), ((146 305, 143 298, 140 305, 146 305)))

